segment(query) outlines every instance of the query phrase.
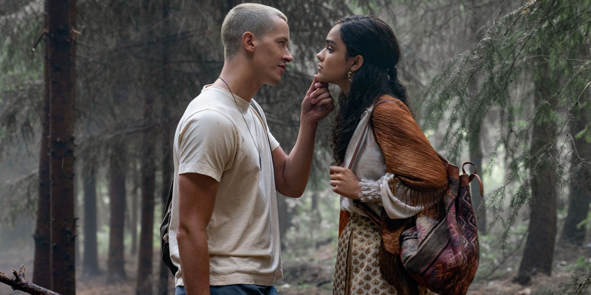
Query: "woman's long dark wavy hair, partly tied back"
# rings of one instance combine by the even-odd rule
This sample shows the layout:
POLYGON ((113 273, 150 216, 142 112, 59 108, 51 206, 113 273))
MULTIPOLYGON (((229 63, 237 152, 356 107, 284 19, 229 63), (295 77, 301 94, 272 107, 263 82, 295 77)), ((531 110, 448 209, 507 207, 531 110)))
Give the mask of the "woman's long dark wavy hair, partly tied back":
POLYGON ((333 159, 335 165, 342 165, 365 109, 384 94, 407 104, 407 91, 397 77, 400 48, 388 24, 372 15, 345 17, 336 24, 341 25, 340 37, 345 42, 347 57, 363 57, 363 65, 352 77, 349 95, 341 93, 339 96, 339 110, 332 130, 333 159))

